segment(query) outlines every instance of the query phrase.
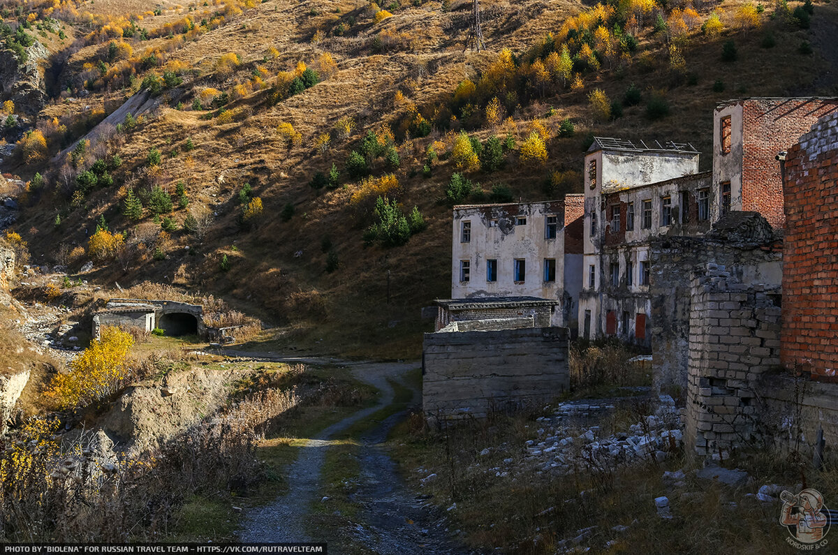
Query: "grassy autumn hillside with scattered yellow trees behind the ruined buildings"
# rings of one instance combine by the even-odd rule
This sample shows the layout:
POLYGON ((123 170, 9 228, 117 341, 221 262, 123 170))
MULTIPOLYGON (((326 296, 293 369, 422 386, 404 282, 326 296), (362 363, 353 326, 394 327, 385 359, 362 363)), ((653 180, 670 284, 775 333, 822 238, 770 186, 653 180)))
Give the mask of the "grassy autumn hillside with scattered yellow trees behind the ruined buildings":
POLYGON ((4 4, 26 6, 19 17, 5 9, 4 21, 30 19, 28 33, 43 34, 50 53, 52 100, 23 117, 42 137, 24 135, 3 166, 33 179, 14 229, 34 259, 77 271, 103 216, 110 231, 127 232, 126 246, 99 252, 86 279, 214 293, 278 326, 265 341, 344 355, 418 354, 421 307, 450 293, 441 200, 458 161, 484 191, 471 200, 497 184, 506 189, 493 199, 540 200, 581 190, 592 134, 692 143, 707 168, 717 102, 838 92, 829 3, 809 16, 800 3, 739 0, 484 2, 482 52, 464 49, 471 3, 448 0, 163 2, 145 13, 134 0, 4 4), (148 88, 152 101, 138 102, 146 112, 96 127, 148 88), (604 97, 591 101, 595 89, 604 97), (99 139, 74 148, 91 130, 99 139), (453 153, 461 130, 507 143, 504 166, 469 169, 453 153), (380 146, 364 147, 368 132, 380 146), (531 132, 546 143, 544 162, 520 160, 531 132), (397 164, 375 155, 390 144, 397 164), (350 177, 349 153, 364 148, 372 177, 392 172, 397 184, 350 177), (337 186, 310 186, 333 163, 337 186), (154 210, 156 187, 172 207, 154 210), (129 191, 145 205, 137 219, 124 214, 129 191), (379 195, 406 213, 415 205, 427 229, 402 246, 365 245, 379 195))

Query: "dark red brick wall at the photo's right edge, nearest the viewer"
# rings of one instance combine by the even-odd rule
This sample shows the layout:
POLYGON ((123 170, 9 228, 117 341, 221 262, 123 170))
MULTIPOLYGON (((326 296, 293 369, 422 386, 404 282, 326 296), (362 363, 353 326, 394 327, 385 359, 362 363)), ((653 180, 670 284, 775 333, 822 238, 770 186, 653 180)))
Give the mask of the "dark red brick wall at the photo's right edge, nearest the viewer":
POLYGON ((838 379, 838 113, 821 119, 785 162, 785 366, 838 379))

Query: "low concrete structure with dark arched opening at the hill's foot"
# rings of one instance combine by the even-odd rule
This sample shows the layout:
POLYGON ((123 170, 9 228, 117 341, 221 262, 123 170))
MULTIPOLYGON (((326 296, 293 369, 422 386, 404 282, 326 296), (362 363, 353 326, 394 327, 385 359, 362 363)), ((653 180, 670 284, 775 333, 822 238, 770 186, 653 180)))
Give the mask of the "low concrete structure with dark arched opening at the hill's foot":
POLYGON ((112 298, 93 316, 93 337, 102 326, 140 328, 150 332, 163 329, 165 335, 204 333, 204 309, 197 304, 168 300, 112 298))

